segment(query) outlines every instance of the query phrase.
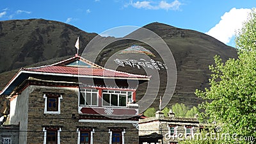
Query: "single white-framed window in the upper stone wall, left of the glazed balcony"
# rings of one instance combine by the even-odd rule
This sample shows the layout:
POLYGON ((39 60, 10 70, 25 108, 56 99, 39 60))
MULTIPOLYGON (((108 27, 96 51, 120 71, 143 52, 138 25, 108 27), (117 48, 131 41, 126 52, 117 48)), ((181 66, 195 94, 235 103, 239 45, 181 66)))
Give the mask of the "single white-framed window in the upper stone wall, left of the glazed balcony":
POLYGON ((61 93, 45 93, 44 99, 44 113, 60 114, 60 99, 62 99, 61 93))

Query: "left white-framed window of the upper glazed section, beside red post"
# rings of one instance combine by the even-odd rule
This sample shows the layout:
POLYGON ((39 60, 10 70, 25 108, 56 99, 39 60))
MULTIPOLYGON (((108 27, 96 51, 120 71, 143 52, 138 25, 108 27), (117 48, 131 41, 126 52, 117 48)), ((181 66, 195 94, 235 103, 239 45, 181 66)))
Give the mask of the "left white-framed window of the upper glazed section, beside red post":
POLYGON ((80 106, 98 106, 98 90, 82 89, 79 92, 80 106))

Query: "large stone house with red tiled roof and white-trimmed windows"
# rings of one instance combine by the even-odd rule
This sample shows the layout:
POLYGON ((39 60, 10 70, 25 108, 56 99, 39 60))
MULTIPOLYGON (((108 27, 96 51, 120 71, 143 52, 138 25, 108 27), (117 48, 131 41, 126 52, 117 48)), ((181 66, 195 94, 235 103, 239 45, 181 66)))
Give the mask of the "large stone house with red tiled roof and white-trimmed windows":
POLYGON ((1 92, 19 143, 139 143, 136 85, 150 77, 74 56, 22 68, 1 92))

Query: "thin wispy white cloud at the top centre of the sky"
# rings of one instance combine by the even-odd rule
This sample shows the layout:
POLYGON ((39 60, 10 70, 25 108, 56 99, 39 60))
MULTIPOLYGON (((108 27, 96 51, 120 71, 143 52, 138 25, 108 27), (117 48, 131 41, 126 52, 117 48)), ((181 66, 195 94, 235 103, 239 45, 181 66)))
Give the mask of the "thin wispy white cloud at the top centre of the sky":
MULTIPOLYGON (((166 1, 159 1, 158 3, 152 3, 151 1, 136 1, 129 4, 134 8, 143 8, 146 10, 179 10, 181 3, 179 0, 175 0, 172 3, 167 3, 166 1)), ((126 4, 125 7, 128 5, 126 4)))

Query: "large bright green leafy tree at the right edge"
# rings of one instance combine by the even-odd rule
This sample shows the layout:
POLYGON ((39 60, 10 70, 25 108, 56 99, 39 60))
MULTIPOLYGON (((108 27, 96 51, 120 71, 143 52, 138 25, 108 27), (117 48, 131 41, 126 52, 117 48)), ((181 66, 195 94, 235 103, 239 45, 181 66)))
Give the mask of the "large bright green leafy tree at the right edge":
MULTIPOLYGON (((215 56, 215 65, 205 91, 196 90, 196 95, 205 99, 200 107, 202 116, 209 123, 221 122, 223 131, 241 138, 239 143, 248 143, 244 138, 256 138, 256 12, 252 10, 247 22, 237 33, 238 58, 221 62, 215 56)), ((230 140, 232 141, 232 140, 230 140)), ((234 140, 236 141, 236 140, 234 140)), ((237 141, 236 141, 237 143, 237 141)))

